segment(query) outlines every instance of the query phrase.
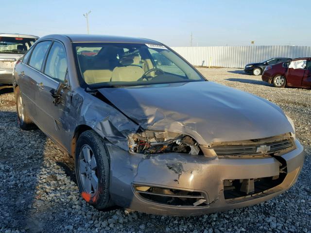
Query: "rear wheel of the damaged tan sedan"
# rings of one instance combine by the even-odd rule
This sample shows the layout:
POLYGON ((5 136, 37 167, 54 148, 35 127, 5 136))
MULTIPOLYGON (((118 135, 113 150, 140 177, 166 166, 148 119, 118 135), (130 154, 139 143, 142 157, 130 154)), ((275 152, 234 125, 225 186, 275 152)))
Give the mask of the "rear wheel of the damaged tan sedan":
POLYGON ((25 105, 23 103, 23 99, 20 94, 19 87, 15 87, 15 100, 16 100, 16 111, 17 111, 17 121, 18 125, 22 130, 32 130, 35 129, 34 122, 30 119, 25 105))

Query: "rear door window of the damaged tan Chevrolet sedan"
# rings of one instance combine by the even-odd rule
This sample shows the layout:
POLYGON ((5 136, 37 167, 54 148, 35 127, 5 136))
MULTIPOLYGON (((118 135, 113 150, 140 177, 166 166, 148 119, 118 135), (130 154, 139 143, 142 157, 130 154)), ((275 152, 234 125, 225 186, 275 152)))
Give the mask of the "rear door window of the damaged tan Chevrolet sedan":
POLYGON ((35 46, 35 49, 29 61, 29 66, 34 67, 37 70, 41 70, 43 60, 47 51, 49 50, 51 43, 51 41, 43 41, 35 46))

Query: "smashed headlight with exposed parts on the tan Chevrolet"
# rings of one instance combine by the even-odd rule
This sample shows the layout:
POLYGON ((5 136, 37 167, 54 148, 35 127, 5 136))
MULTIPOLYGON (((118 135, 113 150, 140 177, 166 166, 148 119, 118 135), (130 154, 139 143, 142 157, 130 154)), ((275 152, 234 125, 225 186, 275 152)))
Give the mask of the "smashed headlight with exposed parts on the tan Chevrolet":
POLYGON ((132 153, 187 153, 200 154, 198 143, 190 136, 166 131, 146 130, 129 135, 129 151, 132 153))

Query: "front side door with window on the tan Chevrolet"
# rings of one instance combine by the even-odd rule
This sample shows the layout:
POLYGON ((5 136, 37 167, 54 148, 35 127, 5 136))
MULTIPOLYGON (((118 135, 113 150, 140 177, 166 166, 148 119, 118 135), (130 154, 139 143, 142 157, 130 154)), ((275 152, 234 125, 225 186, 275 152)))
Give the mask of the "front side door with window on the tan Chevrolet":
POLYGON ((69 84, 66 50, 60 42, 53 41, 43 68, 41 82, 42 85, 39 86, 37 92, 38 124, 59 145, 69 148, 65 145, 69 140, 64 140, 64 138, 69 137, 67 126, 69 125, 71 92, 69 88, 63 89, 61 101, 58 103, 53 102, 55 98, 52 96, 59 83, 69 84))

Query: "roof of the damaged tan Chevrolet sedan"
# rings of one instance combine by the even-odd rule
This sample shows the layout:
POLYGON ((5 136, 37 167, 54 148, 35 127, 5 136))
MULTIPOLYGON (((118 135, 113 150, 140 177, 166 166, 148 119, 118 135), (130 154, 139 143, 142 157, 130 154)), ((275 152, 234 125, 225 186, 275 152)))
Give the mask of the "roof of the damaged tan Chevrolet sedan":
POLYGON ((53 39, 65 36, 70 39, 72 43, 79 42, 117 42, 117 43, 141 43, 141 44, 157 44, 162 45, 155 40, 138 38, 138 37, 126 37, 116 35, 93 35, 93 34, 53 34, 41 37, 41 39, 53 39))

